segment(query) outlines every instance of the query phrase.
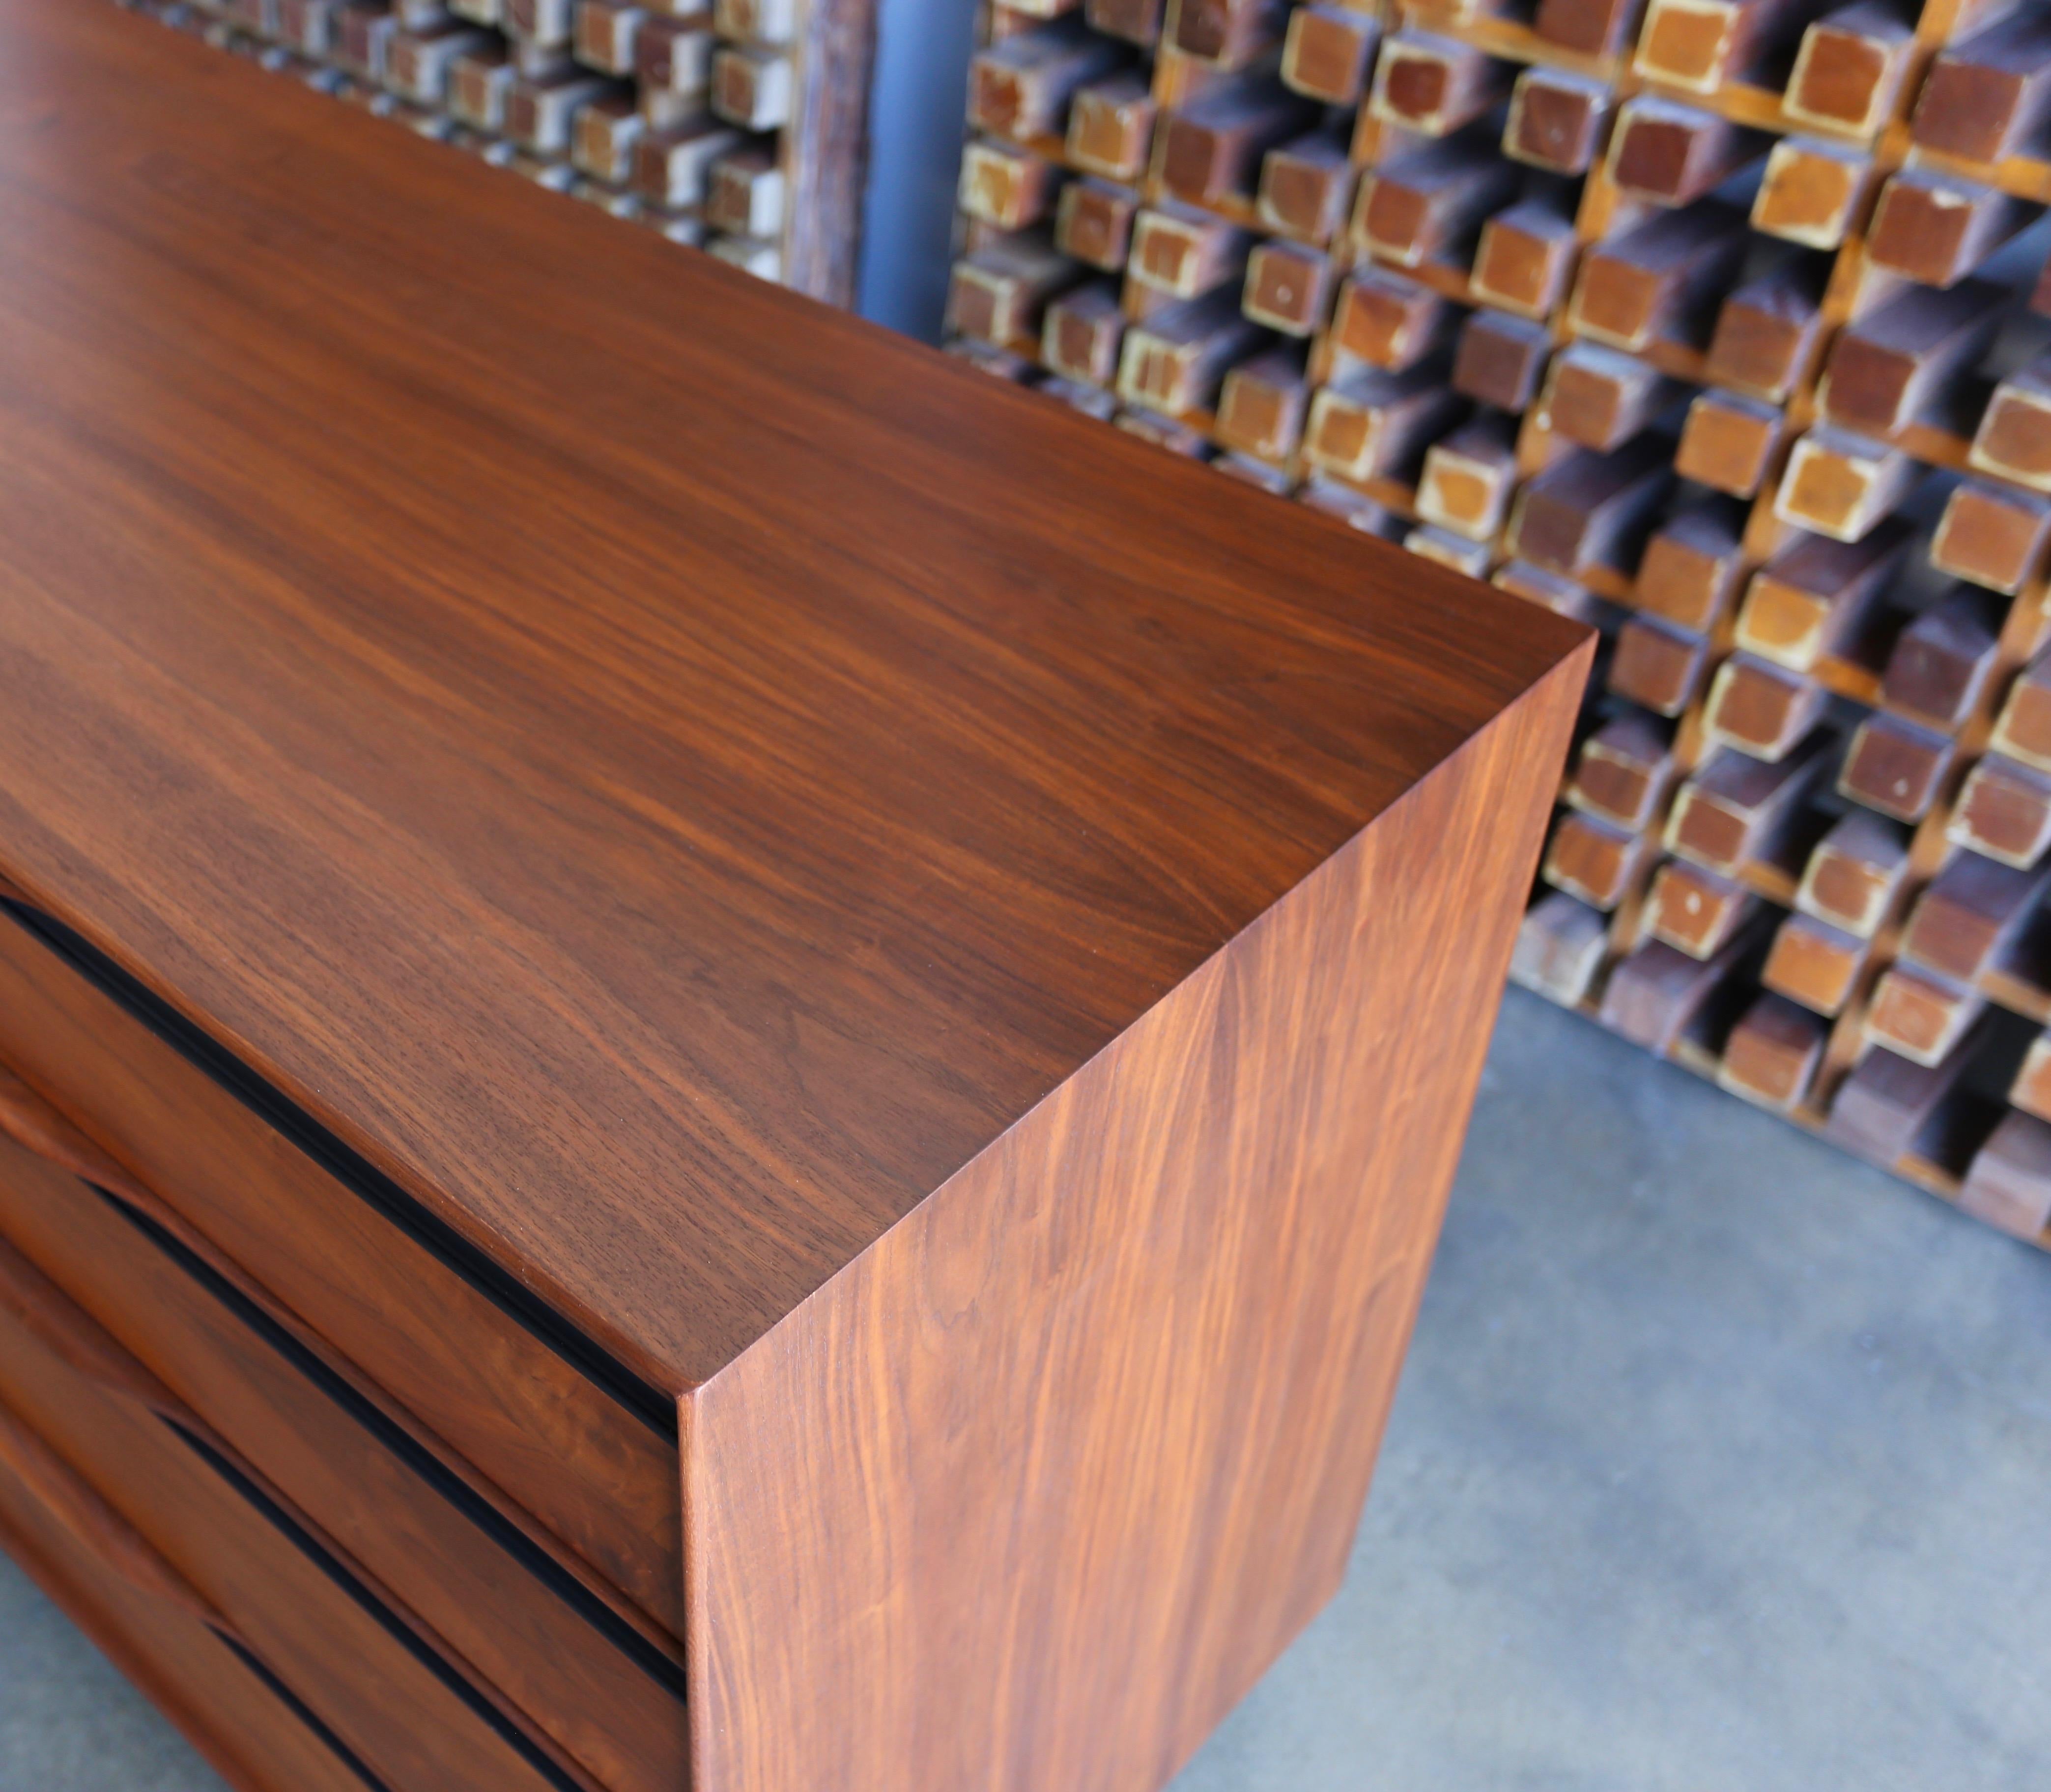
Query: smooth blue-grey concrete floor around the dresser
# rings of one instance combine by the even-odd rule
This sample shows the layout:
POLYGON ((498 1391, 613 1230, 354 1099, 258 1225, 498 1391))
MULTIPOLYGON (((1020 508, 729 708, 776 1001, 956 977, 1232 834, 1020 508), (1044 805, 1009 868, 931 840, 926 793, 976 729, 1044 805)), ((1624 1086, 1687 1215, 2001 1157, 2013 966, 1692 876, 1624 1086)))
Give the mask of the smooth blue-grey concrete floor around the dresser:
MULTIPOLYGON (((2051 1257, 1516 990, 1337 1601, 1175 1792, 2041 1792, 2051 1257)), ((217 1782, 0 1564, 0 1792, 217 1782)))

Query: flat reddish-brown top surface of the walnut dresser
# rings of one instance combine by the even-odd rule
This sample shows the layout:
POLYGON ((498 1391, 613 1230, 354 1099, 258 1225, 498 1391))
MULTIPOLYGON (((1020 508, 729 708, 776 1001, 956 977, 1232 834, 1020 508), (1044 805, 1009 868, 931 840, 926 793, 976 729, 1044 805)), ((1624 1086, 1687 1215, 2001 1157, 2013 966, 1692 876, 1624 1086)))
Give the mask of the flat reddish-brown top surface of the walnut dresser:
POLYGON ((714 1374, 1583 632, 0 0, 0 873, 714 1374))

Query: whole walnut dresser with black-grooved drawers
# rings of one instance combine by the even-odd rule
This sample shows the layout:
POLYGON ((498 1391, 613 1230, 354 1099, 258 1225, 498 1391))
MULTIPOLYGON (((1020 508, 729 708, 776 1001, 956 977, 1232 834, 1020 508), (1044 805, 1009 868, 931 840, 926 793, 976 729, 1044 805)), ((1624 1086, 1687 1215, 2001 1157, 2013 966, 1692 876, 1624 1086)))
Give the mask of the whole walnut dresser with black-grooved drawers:
POLYGON ((240 1788, 1161 1786, 1583 632, 113 6, 0 244, 6 1548, 240 1788))

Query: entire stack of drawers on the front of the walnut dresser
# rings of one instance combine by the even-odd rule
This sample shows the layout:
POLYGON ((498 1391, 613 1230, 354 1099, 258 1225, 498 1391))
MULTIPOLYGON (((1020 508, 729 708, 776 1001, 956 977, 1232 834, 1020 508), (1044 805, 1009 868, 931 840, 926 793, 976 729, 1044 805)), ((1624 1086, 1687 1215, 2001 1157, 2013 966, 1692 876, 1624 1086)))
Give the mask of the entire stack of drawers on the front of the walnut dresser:
POLYGON ((560 1325, 6 904, 0 1521, 252 1784, 687 1784, 675 1419, 560 1325))

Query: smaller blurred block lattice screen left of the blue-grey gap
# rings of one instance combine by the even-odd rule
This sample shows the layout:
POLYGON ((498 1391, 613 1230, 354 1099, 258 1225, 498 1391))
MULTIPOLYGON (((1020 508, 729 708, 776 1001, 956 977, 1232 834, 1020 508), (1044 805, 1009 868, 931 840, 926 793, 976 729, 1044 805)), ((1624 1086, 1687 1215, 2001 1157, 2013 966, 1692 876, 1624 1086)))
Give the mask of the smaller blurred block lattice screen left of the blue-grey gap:
POLYGON ((874 0, 123 0, 853 303, 874 0))

